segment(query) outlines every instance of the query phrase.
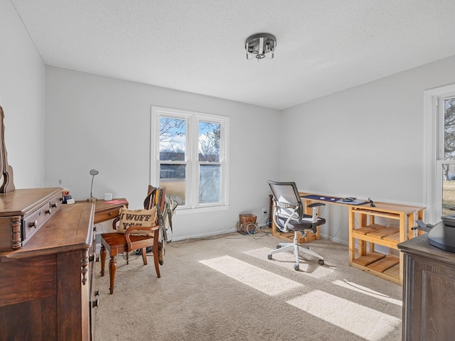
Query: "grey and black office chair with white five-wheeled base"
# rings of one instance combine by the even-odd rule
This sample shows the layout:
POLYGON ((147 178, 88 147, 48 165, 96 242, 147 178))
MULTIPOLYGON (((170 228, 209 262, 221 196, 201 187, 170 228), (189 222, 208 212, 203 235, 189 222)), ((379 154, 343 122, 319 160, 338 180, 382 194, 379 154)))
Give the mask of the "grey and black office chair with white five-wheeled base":
POLYGON ((306 215, 304 205, 301 202, 296 183, 280 183, 268 181, 272 190, 274 202, 273 221, 281 232, 294 232, 294 242, 279 243, 277 249, 267 254, 267 259, 272 259, 272 254, 278 252, 293 251, 296 257, 294 270, 299 271, 299 251, 303 251, 311 256, 318 257, 318 263, 323 265, 324 258, 315 251, 298 244, 299 233, 306 236, 306 231, 316 233, 319 225, 325 224, 326 220, 318 217, 319 206, 325 206, 322 202, 315 202, 307 207, 312 209, 312 215, 306 215))

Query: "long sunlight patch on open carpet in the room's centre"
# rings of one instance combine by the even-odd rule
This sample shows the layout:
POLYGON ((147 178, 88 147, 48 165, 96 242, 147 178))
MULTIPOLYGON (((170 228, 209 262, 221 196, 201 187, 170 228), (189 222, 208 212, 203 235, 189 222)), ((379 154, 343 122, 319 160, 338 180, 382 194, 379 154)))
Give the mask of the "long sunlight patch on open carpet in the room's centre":
POLYGON ((288 278, 245 263, 245 261, 232 258, 231 256, 207 259, 200 261, 200 263, 210 266, 210 268, 220 271, 220 273, 234 278, 251 288, 262 291, 262 293, 266 293, 269 296, 279 295, 303 286, 301 283, 291 281, 288 278))

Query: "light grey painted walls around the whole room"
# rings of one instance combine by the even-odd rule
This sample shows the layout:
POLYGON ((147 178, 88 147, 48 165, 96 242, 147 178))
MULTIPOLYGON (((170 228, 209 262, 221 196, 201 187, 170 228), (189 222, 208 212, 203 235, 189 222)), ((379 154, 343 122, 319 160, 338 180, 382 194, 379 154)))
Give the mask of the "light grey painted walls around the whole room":
MULTIPOLYGON (((309 192, 422 205, 423 92, 455 83, 452 57, 279 114, 45 67, 9 1, 0 1, 0 43, 0 105, 16 188, 55 187, 61 179, 83 200, 88 172, 97 168, 95 196, 109 192, 140 207, 149 183, 151 105, 230 117, 230 209, 177 214, 177 238, 233 228, 241 212, 260 220, 269 179, 294 180, 309 192)), ((345 211, 326 207, 322 232, 346 243, 345 211)))

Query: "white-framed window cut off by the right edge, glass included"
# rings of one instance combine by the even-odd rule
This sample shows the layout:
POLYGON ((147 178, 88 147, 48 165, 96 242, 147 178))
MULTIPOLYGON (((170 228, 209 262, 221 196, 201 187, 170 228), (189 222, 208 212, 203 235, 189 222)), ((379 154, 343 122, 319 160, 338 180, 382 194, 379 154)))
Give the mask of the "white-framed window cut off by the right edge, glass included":
POLYGON ((455 215, 455 85, 427 90, 425 104, 426 220, 455 215))

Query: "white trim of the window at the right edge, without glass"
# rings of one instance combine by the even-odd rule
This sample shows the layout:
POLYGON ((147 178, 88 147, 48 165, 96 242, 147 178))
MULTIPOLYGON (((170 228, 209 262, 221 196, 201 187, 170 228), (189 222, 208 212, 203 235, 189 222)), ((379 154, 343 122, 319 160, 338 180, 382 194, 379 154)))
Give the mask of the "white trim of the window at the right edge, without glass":
MULTIPOLYGON (((441 220, 442 161, 438 161, 438 100, 455 92, 455 84, 424 91, 424 206, 425 222, 441 220), (439 175, 438 175, 439 174, 439 175)), ((441 107, 441 106, 439 106, 441 107)), ((440 108, 442 109, 442 108, 440 108)))

